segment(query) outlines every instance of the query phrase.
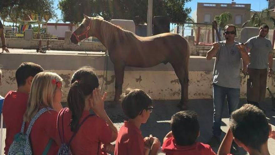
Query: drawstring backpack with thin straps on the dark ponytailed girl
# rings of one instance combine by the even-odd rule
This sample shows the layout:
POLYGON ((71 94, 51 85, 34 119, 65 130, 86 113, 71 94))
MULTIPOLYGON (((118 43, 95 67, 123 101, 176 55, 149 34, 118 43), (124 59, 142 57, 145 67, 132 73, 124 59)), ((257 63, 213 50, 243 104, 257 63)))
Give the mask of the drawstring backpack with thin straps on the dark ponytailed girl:
POLYGON ((84 123, 84 121, 86 121, 90 116, 94 116, 93 114, 90 114, 88 116, 86 116, 83 121, 78 125, 76 131, 73 133, 72 137, 70 138, 69 142, 66 143, 65 142, 65 139, 64 139, 64 122, 63 122, 63 118, 64 118, 64 112, 67 108, 64 108, 62 109, 59 114, 58 114, 58 117, 57 117, 57 128, 58 128, 58 133, 59 133, 59 137, 60 137, 60 140, 61 140, 61 146, 58 150, 58 155, 72 155, 72 151, 70 149, 70 144, 73 140, 73 137, 77 134, 79 128, 82 126, 82 124, 84 123), (60 114, 63 113, 62 115, 62 136, 61 136, 61 132, 60 132, 60 128, 59 128, 59 116, 60 114))

